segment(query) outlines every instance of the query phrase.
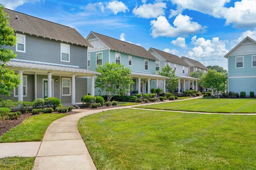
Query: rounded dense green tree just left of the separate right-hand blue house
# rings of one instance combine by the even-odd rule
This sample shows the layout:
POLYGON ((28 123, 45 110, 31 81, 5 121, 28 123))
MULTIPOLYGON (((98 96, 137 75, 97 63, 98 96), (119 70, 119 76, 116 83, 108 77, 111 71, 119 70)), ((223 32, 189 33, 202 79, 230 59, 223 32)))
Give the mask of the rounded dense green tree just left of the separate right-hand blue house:
POLYGON ((209 70, 201 77, 201 85, 204 88, 212 88, 215 91, 225 91, 227 89, 227 74, 209 70))

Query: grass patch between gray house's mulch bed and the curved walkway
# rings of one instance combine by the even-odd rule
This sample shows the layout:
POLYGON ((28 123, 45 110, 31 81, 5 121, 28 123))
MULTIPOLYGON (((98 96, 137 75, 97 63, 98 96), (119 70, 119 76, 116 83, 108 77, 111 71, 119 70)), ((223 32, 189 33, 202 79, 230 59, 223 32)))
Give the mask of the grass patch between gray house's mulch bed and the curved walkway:
POLYGON ((46 113, 26 118, 20 125, 13 127, 0 136, 0 143, 42 141, 47 127, 55 120, 67 116, 61 113, 46 113))

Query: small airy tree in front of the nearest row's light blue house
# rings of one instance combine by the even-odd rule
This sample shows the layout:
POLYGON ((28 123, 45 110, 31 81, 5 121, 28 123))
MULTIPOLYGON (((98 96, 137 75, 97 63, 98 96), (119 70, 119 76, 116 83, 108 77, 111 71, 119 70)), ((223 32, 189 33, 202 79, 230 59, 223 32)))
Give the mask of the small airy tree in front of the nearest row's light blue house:
POLYGON ((96 71, 101 74, 97 75, 95 87, 100 89, 100 93, 106 92, 108 102, 113 95, 128 92, 130 86, 134 84, 131 78, 131 69, 122 64, 107 62, 104 65, 99 65, 96 71))

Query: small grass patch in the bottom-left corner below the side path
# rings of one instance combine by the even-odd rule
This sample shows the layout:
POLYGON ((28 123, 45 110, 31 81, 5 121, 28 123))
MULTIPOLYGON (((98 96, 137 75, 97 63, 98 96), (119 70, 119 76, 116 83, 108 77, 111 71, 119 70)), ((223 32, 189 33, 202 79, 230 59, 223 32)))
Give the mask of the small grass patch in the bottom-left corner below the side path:
POLYGON ((34 157, 0 158, 0 170, 32 170, 34 161, 34 157))

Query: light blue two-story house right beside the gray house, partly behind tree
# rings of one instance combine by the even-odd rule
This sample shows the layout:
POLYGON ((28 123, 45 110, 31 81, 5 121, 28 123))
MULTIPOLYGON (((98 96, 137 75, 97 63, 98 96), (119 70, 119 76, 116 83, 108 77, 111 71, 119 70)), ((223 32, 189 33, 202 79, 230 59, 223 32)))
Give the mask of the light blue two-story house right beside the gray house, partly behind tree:
MULTIPOLYGON (((97 65, 104 65, 106 62, 121 63, 131 68, 134 84, 128 95, 134 91, 138 91, 139 94, 150 93, 151 88, 158 86, 158 79, 165 81, 166 77, 156 75, 158 59, 145 48, 96 32, 90 32, 86 40, 93 45, 93 48, 88 48, 88 70, 95 71, 97 65)), ((88 78, 88 91, 90 90, 91 79, 88 78)), ((95 95, 99 95, 97 88, 95 95)))

